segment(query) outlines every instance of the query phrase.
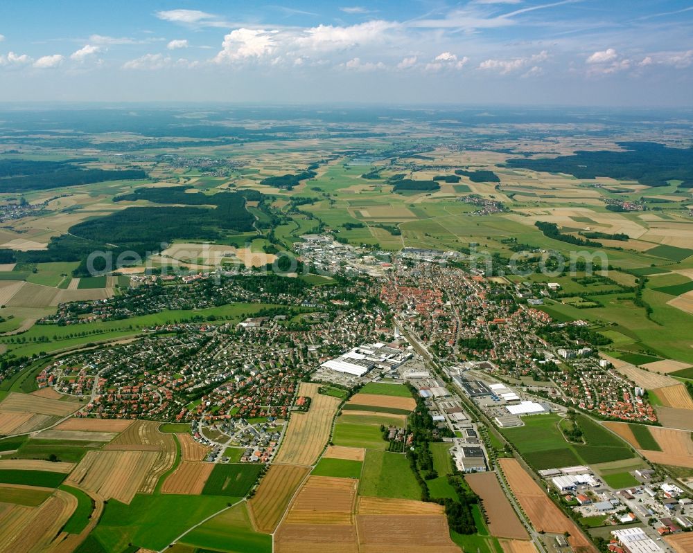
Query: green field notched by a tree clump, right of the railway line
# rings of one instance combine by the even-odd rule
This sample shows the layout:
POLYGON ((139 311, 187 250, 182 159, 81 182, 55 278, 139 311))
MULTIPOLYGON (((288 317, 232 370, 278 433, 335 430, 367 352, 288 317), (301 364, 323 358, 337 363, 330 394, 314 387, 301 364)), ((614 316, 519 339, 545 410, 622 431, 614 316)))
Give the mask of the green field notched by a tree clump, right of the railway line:
POLYGON ((633 457, 620 438, 584 415, 577 415, 585 445, 568 444, 556 424, 558 415, 523 417, 525 426, 504 428, 501 433, 536 470, 553 469, 574 464, 594 464, 633 457))

